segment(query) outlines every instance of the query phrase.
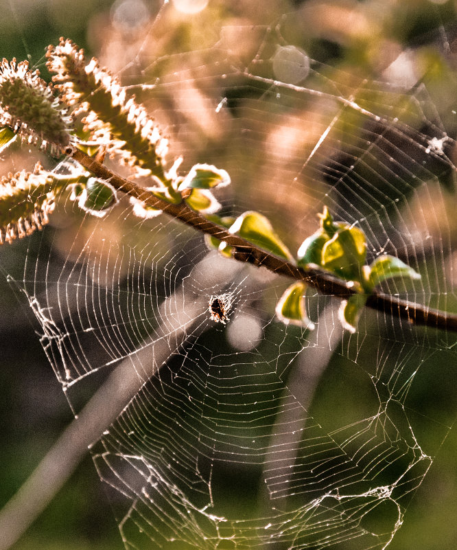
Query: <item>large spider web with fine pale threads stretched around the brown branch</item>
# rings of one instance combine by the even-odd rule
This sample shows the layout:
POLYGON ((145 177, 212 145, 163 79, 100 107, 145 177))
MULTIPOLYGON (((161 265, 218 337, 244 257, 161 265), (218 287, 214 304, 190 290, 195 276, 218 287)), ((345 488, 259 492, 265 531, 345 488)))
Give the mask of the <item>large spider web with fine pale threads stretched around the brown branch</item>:
MULTIPOLYGON (((106 37, 102 62, 166 128, 168 158, 227 170, 223 213, 260 211, 294 251, 327 205, 364 231, 369 262, 421 273, 387 293, 456 310, 455 142, 425 87, 307 56, 286 38, 300 10, 254 27, 208 10, 189 23, 165 2, 141 40, 106 37), (199 47, 176 47, 183 27, 199 44, 199 25, 199 47)), ((443 389, 437 365, 456 364, 453 334, 373 310, 349 334, 338 300, 309 290, 316 330, 283 325, 287 280, 123 199, 103 220, 62 201, 16 283, 75 413, 123 369, 125 402, 106 402, 115 420, 91 452, 128 549, 382 549, 454 422, 452 392, 421 407, 443 389), (226 325, 210 318, 220 295, 226 325)))

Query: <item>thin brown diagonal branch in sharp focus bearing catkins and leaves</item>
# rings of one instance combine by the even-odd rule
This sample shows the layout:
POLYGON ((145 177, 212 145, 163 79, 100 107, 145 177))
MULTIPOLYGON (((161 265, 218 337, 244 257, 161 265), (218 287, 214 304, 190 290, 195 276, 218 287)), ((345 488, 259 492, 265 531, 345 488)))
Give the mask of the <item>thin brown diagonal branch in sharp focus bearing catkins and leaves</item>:
MULTIPOLYGON (((239 262, 249 262, 255 266, 263 266, 278 275, 303 281, 326 295, 347 299, 355 293, 350 283, 338 279, 338 277, 333 277, 330 273, 320 271, 318 268, 298 267, 293 262, 283 260, 281 257, 260 249, 244 238, 229 233, 224 227, 220 227, 214 222, 207 220, 202 214, 198 214, 198 212, 189 208, 184 202, 179 205, 167 203, 167 201, 155 196, 152 192, 145 190, 144 187, 140 187, 132 181, 118 176, 106 168, 106 166, 91 159, 91 157, 88 157, 78 149, 69 147, 66 152, 75 161, 84 166, 84 168, 97 176, 97 178, 107 181, 116 190, 137 198, 150 207, 160 209, 169 214, 169 216, 178 218, 178 220, 183 221, 185 224, 198 229, 198 231, 226 242, 233 247, 233 258, 239 262)), ((427 308, 419 303, 401 300, 377 290, 368 297, 366 306, 390 314, 392 317, 406 319, 408 323, 414 325, 424 325, 430 328, 457 332, 457 315, 427 308)))

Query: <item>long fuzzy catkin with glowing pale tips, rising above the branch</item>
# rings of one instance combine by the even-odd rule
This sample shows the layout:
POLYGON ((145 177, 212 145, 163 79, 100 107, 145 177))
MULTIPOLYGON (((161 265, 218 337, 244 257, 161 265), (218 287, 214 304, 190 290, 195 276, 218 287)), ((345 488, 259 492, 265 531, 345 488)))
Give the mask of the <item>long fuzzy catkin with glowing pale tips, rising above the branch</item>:
POLYGON ((47 58, 62 101, 74 113, 87 113, 84 123, 92 139, 131 165, 137 175, 150 174, 159 185, 168 185, 167 139, 145 108, 126 98, 117 78, 101 69, 95 58, 86 63, 84 51, 63 38, 58 46, 49 46, 47 58))

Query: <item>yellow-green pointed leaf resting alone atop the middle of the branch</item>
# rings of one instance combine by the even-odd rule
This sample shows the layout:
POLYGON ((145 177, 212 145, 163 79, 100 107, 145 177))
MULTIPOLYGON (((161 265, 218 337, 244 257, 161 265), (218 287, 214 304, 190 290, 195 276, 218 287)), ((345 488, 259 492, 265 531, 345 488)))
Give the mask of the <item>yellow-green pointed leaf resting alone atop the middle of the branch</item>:
POLYGON ((286 260, 294 259, 277 233, 274 232, 268 218, 259 212, 244 212, 235 220, 229 231, 286 260))

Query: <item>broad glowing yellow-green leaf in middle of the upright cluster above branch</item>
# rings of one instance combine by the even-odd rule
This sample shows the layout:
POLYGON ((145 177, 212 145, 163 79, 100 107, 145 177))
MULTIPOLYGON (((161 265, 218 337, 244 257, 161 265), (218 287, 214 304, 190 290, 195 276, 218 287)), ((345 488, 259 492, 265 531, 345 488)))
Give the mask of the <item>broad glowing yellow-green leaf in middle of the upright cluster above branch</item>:
POLYGON ((338 222, 338 231, 322 250, 322 265, 339 277, 360 280, 366 259, 366 238, 361 229, 338 222))

